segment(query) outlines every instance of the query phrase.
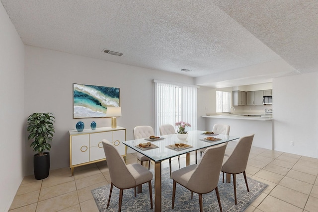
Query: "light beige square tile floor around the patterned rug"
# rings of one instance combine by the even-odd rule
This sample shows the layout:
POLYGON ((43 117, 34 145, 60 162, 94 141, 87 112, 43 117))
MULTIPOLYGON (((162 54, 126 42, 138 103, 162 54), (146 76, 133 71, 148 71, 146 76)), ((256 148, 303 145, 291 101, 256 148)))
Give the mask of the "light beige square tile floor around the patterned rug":
MULTIPOLYGON (((236 143, 229 142, 226 153, 231 153, 236 143)), ((126 161, 136 163, 136 155, 128 154, 126 161)), ((194 162, 195 154, 191 153, 190 163, 194 162)), ((185 156, 180 163, 185 166, 185 156)), ((178 168, 177 159, 172 165, 172 170, 178 168)), ((168 167, 168 160, 162 166, 168 167)), ((252 147, 246 174, 268 184, 246 212, 318 211, 318 159, 252 147)), ((90 191, 109 183, 106 161, 76 167, 74 176, 69 167, 51 170, 43 180, 26 176, 9 212, 98 212, 90 191)))

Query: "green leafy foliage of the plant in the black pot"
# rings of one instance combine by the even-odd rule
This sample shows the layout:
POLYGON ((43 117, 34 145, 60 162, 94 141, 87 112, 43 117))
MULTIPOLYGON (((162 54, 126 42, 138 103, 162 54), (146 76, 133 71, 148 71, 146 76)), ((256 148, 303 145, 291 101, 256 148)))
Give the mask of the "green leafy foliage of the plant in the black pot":
POLYGON ((50 150, 54 131, 54 116, 52 113, 33 113, 27 120, 28 140, 33 139, 30 146, 41 156, 45 149, 50 150))

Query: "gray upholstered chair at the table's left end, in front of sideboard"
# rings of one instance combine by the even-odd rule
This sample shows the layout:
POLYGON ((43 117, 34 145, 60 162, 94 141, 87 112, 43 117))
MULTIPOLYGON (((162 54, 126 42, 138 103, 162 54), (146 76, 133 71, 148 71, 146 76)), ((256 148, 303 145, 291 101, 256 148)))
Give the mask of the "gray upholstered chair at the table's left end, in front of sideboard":
POLYGON ((123 190, 135 188, 136 197, 136 186, 142 185, 148 182, 149 194, 150 194, 150 205, 153 209, 153 192, 151 181, 153 179, 153 173, 147 168, 143 167, 139 163, 133 163, 126 165, 123 157, 119 154, 117 149, 107 140, 102 140, 104 152, 106 156, 107 166, 110 174, 110 191, 107 203, 107 209, 109 207, 111 192, 113 186, 120 189, 119 191, 119 204, 118 212, 121 211, 121 205, 123 200, 123 190))

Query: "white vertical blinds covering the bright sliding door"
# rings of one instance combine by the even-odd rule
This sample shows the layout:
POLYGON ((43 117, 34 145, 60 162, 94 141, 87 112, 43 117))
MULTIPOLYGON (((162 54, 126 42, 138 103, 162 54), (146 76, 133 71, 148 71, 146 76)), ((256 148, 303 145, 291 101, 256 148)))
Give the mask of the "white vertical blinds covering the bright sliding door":
POLYGON ((183 121, 197 130, 197 87, 162 83, 155 80, 155 134, 159 127, 183 121))

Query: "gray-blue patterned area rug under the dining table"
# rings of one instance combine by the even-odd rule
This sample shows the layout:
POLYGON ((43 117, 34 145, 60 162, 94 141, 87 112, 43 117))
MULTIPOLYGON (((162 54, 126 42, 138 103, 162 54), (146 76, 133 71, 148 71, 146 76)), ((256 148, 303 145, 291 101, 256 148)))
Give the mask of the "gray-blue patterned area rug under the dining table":
MULTIPOLYGON (((154 172, 154 170, 152 170, 154 172)), ((161 211, 162 212, 197 212, 199 211, 198 194, 193 193, 191 200, 191 192, 183 186, 177 184, 174 209, 172 206, 172 186, 173 180, 170 179, 169 169, 164 168, 161 171, 161 211)), ((155 204, 155 187, 154 179, 152 180, 153 186, 153 200, 155 204)), ((237 175, 237 200, 238 205, 234 203, 234 188, 233 179, 231 183, 222 183, 222 173, 219 178, 219 193, 221 199, 222 210, 224 212, 243 212, 262 192, 266 189, 267 185, 247 177, 249 192, 246 190, 243 174, 237 175)), ((106 209, 110 184, 91 190, 95 199, 96 205, 100 212, 117 212, 119 201, 119 189, 113 187, 112 196, 109 208, 106 209)), ((218 200, 215 191, 208 194, 203 194, 203 211, 216 212, 220 211, 218 200)), ((155 207, 155 206, 154 206, 155 207)), ((150 197, 148 184, 143 185, 143 193, 137 194, 134 197, 134 189, 124 190, 122 212, 154 212, 150 209, 150 197)))

